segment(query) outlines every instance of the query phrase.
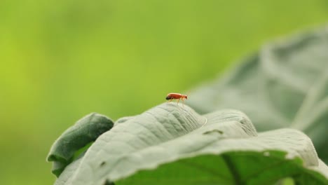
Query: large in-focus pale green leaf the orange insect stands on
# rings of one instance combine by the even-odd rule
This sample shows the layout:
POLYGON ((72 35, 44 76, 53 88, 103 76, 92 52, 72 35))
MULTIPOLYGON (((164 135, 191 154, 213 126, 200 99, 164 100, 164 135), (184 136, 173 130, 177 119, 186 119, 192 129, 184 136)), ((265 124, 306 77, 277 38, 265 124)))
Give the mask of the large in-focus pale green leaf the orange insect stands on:
POLYGON ((273 184, 284 177, 328 184, 328 167, 302 132, 257 134, 240 111, 200 116, 165 103, 116 121, 56 184, 273 184))

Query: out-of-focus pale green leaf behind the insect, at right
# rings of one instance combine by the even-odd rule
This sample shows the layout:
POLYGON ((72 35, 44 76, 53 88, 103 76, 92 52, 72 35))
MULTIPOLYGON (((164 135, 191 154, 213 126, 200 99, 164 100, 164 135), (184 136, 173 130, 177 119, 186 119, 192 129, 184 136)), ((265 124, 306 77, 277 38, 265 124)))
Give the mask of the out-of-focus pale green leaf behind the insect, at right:
POLYGON ((296 128, 328 162, 328 29, 269 43, 223 77, 192 90, 200 113, 238 109, 257 130, 296 128))

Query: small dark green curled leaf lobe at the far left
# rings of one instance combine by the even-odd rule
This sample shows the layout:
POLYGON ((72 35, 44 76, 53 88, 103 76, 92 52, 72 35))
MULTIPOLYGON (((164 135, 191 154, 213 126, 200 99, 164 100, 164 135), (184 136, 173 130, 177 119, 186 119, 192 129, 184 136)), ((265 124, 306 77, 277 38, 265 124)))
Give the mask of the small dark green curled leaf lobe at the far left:
POLYGON ((114 123, 106 116, 89 114, 67 129, 53 144, 47 160, 53 161, 53 174, 57 177, 74 159, 74 154, 94 142, 102 133, 113 127, 114 123))

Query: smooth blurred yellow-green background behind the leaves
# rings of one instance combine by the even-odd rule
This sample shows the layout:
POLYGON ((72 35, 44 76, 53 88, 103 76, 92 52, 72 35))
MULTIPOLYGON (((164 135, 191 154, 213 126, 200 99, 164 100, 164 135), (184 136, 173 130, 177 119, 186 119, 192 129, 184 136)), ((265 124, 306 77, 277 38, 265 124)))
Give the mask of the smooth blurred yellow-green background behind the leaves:
POLYGON ((139 114, 327 18, 325 0, 1 0, 0 184, 53 184, 46 155, 79 118, 139 114))

